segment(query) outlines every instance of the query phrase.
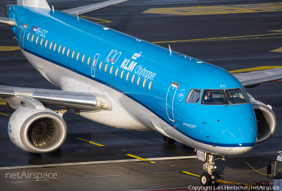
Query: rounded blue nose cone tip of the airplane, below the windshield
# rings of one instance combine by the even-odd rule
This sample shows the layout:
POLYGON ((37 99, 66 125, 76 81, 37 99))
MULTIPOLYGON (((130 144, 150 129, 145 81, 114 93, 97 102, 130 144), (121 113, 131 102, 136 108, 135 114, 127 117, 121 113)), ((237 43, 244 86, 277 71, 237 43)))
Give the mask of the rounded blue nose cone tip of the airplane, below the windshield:
POLYGON ((222 146, 253 147, 256 143, 257 132, 247 126, 232 126, 222 131, 222 146))

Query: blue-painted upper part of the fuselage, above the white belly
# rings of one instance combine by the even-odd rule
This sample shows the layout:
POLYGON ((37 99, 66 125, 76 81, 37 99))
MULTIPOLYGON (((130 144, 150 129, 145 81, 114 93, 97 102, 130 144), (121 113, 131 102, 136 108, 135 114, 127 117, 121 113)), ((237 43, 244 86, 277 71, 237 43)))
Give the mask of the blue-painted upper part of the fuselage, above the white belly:
MULTIPOLYGON (((224 69, 175 51, 170 53, 166 48, 68 13, 19 5, 11 7, 7 16, 17 22, 17 26, 11 28, 24 52, 123 93, 188 139, 222 148, 254 146, 257 123, 250 102, 238 107, 202 105, 201 101, 185 103, 192 88, 201 90, 201 94, 203 89, 242 88, 224 69), (25 24, 28 26, 24 32, 25 24), (96 65, 93 65, 95 58, 96 65)), ((189 141, 185 144, 200 148, 189 141)))

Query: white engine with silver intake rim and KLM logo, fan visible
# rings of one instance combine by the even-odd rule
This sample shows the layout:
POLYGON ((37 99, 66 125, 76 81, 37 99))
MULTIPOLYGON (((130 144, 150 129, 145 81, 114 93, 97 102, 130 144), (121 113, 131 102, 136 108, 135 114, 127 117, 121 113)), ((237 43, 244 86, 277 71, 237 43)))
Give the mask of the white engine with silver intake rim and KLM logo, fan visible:
POLYGON ((48 153, 59 149, 64 143, 67 127, 63 118, 53 110, 23 107, 10 117, 8 135, 20 149, 48 153))

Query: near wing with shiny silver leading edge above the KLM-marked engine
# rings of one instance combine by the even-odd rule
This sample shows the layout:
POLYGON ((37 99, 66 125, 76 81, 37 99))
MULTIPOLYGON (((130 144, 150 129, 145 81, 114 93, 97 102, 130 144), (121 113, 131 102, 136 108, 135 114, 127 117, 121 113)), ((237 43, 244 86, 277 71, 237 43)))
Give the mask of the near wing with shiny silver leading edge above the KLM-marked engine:
POLYGON ((10 107, 15 110, 21 107, 36 108, 37 106, 42 106, 42 104, 38 101, 43 104, 58 105, 76 110, 112 110, 110 100, 104 95, 95 93, 21 88, 1 85, 0 97, 7 101, 10 107))

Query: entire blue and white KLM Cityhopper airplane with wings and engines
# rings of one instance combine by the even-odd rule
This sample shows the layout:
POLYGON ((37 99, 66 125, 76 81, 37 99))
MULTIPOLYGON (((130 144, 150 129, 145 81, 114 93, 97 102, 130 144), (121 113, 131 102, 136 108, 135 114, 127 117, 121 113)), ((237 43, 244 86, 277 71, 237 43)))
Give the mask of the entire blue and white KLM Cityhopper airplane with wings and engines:
POLYGON ((205 163, 201 185, 216 186, 215 156, 224 160, 245 154, 274 134, 271 106, 244 87, 281 79, 282 70, 233 76, 79 17, 125 1, 64 11, 50 9, 45 0, 17 0, 5 7, 0 23, 11 27, 34 68, 62 89, 0 86, 0 96, 14 111, 8 122, 10 140, 33 153, 60 148, 67 134, 62 116, 70 109, 103 125, 155 130, 166 143, 177 140, 195 148, 205 163), (53 111, 49 104, 64 108, 53 111))

